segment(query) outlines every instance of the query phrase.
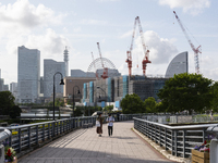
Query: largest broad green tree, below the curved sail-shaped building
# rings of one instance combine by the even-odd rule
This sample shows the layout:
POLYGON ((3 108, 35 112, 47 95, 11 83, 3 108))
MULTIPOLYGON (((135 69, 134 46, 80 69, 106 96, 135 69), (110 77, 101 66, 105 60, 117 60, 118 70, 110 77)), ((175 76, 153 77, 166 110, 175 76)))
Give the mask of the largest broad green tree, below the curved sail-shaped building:
POLYGON ((204 108, 210 106, 211 79, 197 74, 174 75, 166 80, 157 96, 166 106, 166 112, 202 112, 204 108))

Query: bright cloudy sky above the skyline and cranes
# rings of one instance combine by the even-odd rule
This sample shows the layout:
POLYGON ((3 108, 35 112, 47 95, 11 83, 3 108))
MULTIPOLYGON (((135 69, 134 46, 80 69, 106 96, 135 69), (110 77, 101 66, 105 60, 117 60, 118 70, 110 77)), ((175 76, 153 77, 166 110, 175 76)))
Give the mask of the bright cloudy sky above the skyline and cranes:
MULTIPOLYGON (((177 12, 198 55, 199 73, 218 80, 218 1, 216 0, 1 0, 0 68, 4 84, 17 82, 17 47, 40 51, 44 59, 63 61, 69 50, 69 70, 88 71, 94 59, 109 59, 122 75, 128 75, 126 51, 133 26, 140 16, 144 41, 152 63, 148 76, 165 76, 170 61, 189 52, 189 73, 195 73, 194 52, 182 32, 177 12)), ((142 75, 145 57, 136 26, 133 40, 133 75, 142 75)), ((100 64, 96 65, 100 68, 100 64)), ((69 71, 70 73, 70 71, 69 71)))

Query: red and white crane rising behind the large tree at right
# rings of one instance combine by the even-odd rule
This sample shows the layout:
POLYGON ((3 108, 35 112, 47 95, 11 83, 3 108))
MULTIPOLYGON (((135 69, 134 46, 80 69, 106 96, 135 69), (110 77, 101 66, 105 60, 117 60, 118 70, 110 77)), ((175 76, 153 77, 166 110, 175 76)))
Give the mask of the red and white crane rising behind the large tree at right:
POLYGON ((175 18, 178 20, 178 23, 180 25, 180 27, 182 28, 182 32, 184 33, 184 36, 186 37, 192 50, 194 51, 194 60, 195 60, 195 73, 196 74, 199 74, 199 62, 198 62, 198 53, 202 53, 201 51, 201 47, 202 46, 198 46, 197 48, 194 47, 194 45, 192 43, 189 35, 186 34, 186 30, 184 28, 184 26, 182 25, 179 16, 177 15, 175 11, 173 11, 174 15, 175 15, 175 18))

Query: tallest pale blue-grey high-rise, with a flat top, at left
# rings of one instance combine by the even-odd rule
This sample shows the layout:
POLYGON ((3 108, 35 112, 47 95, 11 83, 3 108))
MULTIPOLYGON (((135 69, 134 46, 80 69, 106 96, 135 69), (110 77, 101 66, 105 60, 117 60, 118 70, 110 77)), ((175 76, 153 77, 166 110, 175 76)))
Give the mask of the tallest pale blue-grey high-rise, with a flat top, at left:
POLYGON ((36 102, 40 86, 40 51, 19 47, 17 102, 36 102))

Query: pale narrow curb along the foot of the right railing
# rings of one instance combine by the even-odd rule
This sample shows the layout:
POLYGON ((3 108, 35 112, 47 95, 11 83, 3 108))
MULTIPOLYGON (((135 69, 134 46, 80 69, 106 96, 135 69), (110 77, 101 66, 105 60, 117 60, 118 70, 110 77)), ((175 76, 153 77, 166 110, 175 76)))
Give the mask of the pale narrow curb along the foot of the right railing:
POLYGON ((165 158, 167 158, 167 159, 169 159, 171 161, 177 161, 177 162, 181 162, 181 163, 190 163, 189 159, 179 158, 179 156, 174 156, 174 155, 170 154, 162 147, 158 146, 156 142, 154 142, 153 140, 150 140, 148 137, 146 137, 145 135, 143 135, 142 133, 140 133, 135 128, 133 128, 133 131, 135 131, 141 138, 143 138, 145 141, 147 141, 154 149, 156 149, 165 158))

